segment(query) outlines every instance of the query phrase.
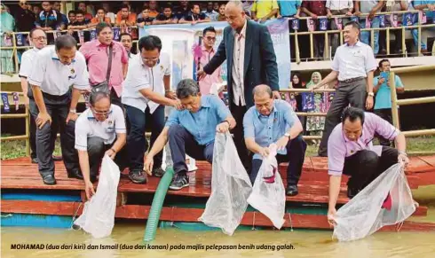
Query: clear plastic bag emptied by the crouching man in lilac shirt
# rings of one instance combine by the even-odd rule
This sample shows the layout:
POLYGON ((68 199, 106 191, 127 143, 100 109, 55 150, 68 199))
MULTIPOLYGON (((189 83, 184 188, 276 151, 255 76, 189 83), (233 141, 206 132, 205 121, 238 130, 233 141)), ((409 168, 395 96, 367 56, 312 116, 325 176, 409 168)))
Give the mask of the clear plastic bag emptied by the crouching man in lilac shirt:
POLYGON ((405 221, 417 206, 403 168, 395 164, 338 209, 333 238, 339 241, 365 238, 385 225, 405 221))

